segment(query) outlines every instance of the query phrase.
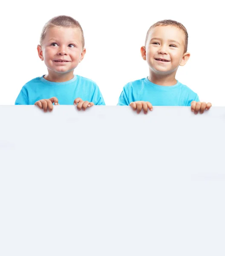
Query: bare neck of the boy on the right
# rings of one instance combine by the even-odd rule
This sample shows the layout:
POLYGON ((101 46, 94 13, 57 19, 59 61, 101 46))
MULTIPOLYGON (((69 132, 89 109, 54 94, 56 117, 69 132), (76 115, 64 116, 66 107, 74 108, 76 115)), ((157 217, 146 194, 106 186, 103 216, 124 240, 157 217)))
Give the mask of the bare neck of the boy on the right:
POLYGON ((162 75, 158 75, 150 72, 148 76, 148 80, 151 81, 153 84, 158 84, 163 86, 172 86, 177 83, 174 73, 162 76, 162 75))

